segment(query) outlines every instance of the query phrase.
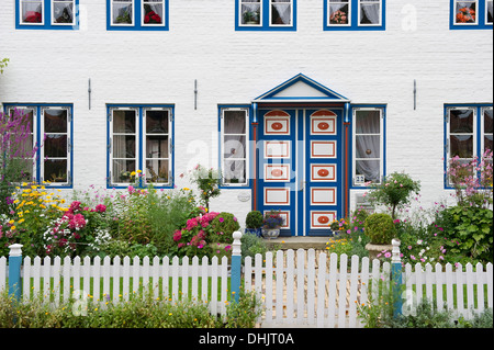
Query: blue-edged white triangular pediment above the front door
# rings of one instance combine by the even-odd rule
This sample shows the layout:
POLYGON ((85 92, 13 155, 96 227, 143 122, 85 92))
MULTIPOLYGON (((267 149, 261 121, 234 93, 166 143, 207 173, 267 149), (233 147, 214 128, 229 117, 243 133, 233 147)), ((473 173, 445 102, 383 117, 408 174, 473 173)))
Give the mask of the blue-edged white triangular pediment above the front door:
POLYGON ((349 99, 339 94, 322 83, 299 74, 261 95, 254 103, 261 102, 330 102, 346 103, 349 99))

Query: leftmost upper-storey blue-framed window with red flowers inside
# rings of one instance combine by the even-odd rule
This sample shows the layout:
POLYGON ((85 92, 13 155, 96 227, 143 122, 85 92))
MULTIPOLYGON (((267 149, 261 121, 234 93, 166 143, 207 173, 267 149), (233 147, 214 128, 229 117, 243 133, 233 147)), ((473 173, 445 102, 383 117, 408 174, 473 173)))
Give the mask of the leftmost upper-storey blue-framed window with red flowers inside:
POLYGON ((15 29, 79 29, 79 0, 15 0, 15 29))

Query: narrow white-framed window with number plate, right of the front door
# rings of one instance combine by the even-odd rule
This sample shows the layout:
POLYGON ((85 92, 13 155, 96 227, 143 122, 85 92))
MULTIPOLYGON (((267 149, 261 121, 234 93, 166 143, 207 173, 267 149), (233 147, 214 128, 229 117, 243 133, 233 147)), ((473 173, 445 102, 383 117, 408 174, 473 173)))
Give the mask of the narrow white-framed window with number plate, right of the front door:
POLYGON ((353 109, 353 185, 381 183, 384 176, 384 110, 353 109))

